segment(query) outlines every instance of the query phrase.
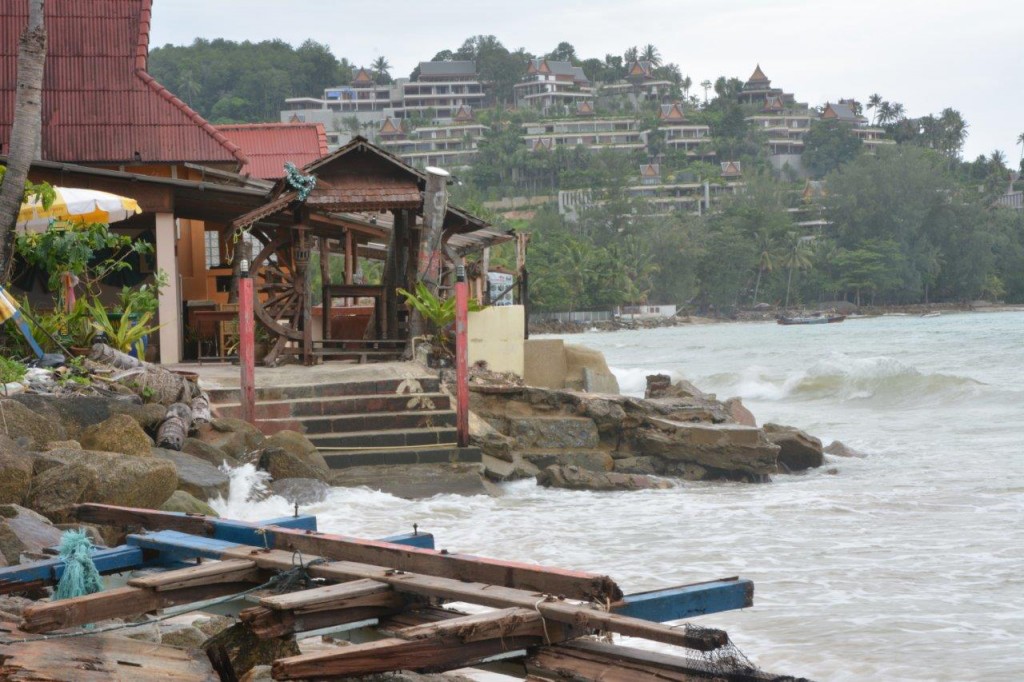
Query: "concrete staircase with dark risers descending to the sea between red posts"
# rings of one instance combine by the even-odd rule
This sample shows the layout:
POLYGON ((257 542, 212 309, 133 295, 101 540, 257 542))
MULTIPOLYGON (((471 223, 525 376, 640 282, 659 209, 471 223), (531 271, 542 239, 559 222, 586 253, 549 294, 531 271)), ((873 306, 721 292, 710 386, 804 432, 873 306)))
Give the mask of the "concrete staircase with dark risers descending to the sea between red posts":
MULTIPOLYGON (((208 392, 214 415, 241 417, 239 389, 208 392)), ((256 421, 267 435, 304 433, 333 469, 480 461, 479 449, 457 445, 436 377, 257 388, 256 421)))

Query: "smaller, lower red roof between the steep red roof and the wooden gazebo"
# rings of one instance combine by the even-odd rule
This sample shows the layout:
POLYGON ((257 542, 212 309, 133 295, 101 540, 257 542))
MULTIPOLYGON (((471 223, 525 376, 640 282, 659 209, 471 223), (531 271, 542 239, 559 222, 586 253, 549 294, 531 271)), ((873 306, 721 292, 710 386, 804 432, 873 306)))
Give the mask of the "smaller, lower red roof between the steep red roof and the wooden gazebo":
POLYGON ((249 158, 240 173, 265 180, 285 177, 285 162, 302 168, 328 155, 321 123, 247 123, 216 126, 249 158))

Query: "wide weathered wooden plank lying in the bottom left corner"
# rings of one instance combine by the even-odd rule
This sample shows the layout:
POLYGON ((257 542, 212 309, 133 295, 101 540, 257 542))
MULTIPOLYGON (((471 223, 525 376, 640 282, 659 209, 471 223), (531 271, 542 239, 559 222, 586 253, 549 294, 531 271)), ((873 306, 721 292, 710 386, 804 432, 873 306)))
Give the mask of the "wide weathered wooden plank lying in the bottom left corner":
MULTIPOLYGON (((9 628, 4 627, 4 630, 9 628)), ((0 680, 42 682, 138 682, 188 680, 219 682, 202 651, 141 642, 116 635, 90 635, 45 642, 19 642, 25 633, 5 633, 0 647, 0 680)))

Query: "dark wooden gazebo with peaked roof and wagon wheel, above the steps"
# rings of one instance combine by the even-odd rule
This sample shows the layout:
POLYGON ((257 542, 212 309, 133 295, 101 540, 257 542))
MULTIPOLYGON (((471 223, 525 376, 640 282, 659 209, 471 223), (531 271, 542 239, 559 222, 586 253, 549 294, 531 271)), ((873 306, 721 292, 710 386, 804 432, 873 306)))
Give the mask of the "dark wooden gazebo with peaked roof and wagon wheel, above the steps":
MULTIPOLYGON (((264 205, 231 222, 233 229, 249 231, 262 245, 250 271, 256 316, 275 340, 268 360, 281 353, 297 353, 306 365, 317 356, 400 353, 408 330, 400 324, 396 289, 415 285, 426 180, 422 171, 355 137, 279 181, 264 205), (319 338, 312 321, 313 250, 321 254, 323 282, 319 338), (332 281, 332 253, 344 254, 343 282, 332 281), (384 259, 379 285, 355 282, 358 256, 384 259), (360 338, 332 338, 334 301, 365 298, 373 299, 374 306, 372 324, 360 338)), ((438 256, 458 258, 511 239, 510 231, 445 205, 438 256)))

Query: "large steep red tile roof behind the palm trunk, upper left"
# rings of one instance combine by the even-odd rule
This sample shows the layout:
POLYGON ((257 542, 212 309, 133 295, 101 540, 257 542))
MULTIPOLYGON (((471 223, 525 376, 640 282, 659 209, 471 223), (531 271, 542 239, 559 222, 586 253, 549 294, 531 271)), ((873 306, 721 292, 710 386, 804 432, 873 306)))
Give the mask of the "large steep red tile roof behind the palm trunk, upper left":
MULTIPOLYGON (((245 163, 242 151, 146 73, 152 0, 50 0, 43 159, 245 163)), ((0 144, 14 117, 25 2, 0 3, 0 144)))

